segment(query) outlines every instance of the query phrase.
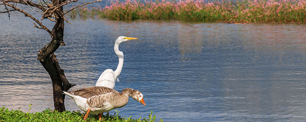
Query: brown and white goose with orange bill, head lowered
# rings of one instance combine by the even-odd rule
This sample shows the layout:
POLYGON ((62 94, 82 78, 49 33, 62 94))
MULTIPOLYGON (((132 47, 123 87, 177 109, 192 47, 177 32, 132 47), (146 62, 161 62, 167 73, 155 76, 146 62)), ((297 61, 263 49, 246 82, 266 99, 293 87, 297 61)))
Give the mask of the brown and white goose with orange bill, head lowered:
POLYGON ((121 92, 105 86, 85 87, 73 91, 63 91, 70 96, 77 106, 88 114, 101 116, 114 108, 123 107, 128 102, 128 96, 145 105, 143 95, 139 90, 125 88, 121 92))

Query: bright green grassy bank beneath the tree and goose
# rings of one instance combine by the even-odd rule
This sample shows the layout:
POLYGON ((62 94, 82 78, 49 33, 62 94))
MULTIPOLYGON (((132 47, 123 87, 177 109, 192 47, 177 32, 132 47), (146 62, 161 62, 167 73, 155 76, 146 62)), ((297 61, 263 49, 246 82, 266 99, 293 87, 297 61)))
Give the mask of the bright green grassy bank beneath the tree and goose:
MULTIPOLYGON (((131 119, 130 117, 121 117, 116 111, 113 115, 103 115, 103 121, 156 121, 155 115, 151 114, 148 118, 131 119)), ((8 108, 0 108, 0 121, 85 121, 85 114, 80 111, 64 111, 58 112, 52 109, 46 109, 42 112, 23 112, 21 110, 9 110, 8 108)), ((87 121, 99 121, 98 116, 89 116, 87 121)), ((160 121, 163 121, 162 119, 160 121)))

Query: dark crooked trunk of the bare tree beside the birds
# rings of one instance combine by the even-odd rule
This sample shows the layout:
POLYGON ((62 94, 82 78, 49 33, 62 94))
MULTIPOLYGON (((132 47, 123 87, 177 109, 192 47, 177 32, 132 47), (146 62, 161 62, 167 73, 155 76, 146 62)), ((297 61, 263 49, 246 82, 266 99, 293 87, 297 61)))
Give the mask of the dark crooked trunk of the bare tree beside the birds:
MULTIPOLYGON (((60 4, 62 0, 53 0, 53 5, 60 4)), ((63 13, 63 8, 59 8, 59 12, 63 13)), ((53 52, 60 46, 65 45, 63 41, 64 36, 64 19, 57 15, 56 23, 51 31, 53 38, 49 44, 47 44, 38 54, 40 62, 44 68, 48 71, 53 86, 53 100, 54 108, 58 111, 65 111, 65 95, 63 90, 67 91, 70 87, 74 86, 70 84, 65 77, 64 70, 60 68, 58 60, 53 52), (40 58, 41 57, 41 58, 40 58), (68 83, 67 83, 68 82, 68 83)))

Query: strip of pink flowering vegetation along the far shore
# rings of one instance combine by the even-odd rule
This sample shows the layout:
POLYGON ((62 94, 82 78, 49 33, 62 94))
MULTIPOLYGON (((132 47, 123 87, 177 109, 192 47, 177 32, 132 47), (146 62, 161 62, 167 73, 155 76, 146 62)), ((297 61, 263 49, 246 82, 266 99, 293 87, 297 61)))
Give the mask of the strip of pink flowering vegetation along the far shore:
MULTIPOLYGON (((111 1, 104 8, 79 8, 81 17, 134 19, 177 19, 204 22, 306 23, 306 0, 180 0, 111 1)), ((73 16, 72 16, 73 17, 73 16)))

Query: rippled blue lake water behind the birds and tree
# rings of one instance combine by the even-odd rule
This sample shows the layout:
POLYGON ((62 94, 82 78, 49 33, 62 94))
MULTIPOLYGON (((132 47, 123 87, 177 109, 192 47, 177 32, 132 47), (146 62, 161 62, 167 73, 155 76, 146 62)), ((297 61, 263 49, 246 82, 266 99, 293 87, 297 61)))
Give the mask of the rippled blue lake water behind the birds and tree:
MULTIPOLYGON (((0 20, 0 106, 54 108, 51 79, 36 60, 50 36, 16 12, 0 20)), ((55 52, 77 84, 70 90, 94 86, 104 69, 116 68, 119 35, 139 38, 120 44, 124 65, 115 89, 140 90, 146 106, 130 98, 118 108, 123 117, 152 110, 164 121, 306 121, 305 24, 71 22, 66 46, 55 52)), ((79 109, 70 97, 65 105, 79 109)))

